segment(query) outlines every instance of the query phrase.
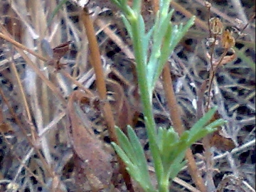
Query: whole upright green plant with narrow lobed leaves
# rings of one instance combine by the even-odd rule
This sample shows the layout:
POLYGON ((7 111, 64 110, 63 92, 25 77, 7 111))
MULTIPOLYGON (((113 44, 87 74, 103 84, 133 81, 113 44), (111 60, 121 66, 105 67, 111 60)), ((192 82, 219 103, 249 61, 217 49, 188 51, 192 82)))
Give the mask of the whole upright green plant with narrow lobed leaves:
POLYGON ((173 10, 169 11, 170 0, 159 1, 159 11, 156 13, 154 24, 146 31, 145 22, 141 14, 141 0, 134 0, 132 6, 127 0, 112 0, 122 11, 122 19, 132 39, 134 57, 137 63, 137 77, 139 92, 142 100, 146 132, 149 138, 149 149, 154 161, 157 188, 154 188, 149 177, 149 171, 144 156, 144 150, 132 127, 127 127, 127 135, 117 127, 119 145, 112 142, 117 154, 127 166, 127 171, 144 191, 169 191, 169 185, 181 168, 185 151, 191 144, 207 134, 214 132, 216 127, 224 124, 223 119, 208 124, 217 110, 209 110, 196 124, 180 136, 172 127, 159 128, 156 131, 152 108, 152 92, 161 71, 174 51, 178 42, 193 25, 192 17, 186 25, 171 23, 173 10), (150 49, 149 49, 150 42, 150 49), (149 53, 149 50, 150 53, 149 53))

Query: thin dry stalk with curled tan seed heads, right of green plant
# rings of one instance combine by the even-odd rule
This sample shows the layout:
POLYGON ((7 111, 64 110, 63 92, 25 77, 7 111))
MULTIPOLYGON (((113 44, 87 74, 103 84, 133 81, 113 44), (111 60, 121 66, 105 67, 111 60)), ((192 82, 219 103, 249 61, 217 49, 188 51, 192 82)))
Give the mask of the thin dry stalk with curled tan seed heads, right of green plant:
MULTIPOLYGON (((226 63, 232 61, 235 59, 235 50, 233 50, 233 46, 235 46, 235 38, 233 38, 232 33, 230 31, 225 30, 223 31, 223 23, 220 21, 220 18, 210 18, 210 8, 211 4, 206 1, 205 4, 206 8, 208 9, 208 31, 209 31, 209 46, 210 46, 210 53, 207 53, 206 57, 208 60, 210 60, 210 72, 209 72, 209 78, 208 80, 205 80, 203 84, 201 85, 201 89, 198 92, 198 118, 201 118, 206 110, 206 112, 210 108, 210 91, 212 89, 213 85, 213 79, 215 78, 216 70, 222 65, 225 65, 226 63), (220 41, 222 43, 222 46, 224 48, 222 55, 220 55, 220 58, 215 59, 214 58, 214 51, 215 51, 215 45, 218 43, 218 38, 220 38, 220 41), (233 55, 226 55, 228 53, 228 50, 233 50, 233 55), (208 101, 206 103, 206 109, 203 109, 203 92, 206 90, 206 85, 208 84, 208 101)), ((216 119, 213 117, 213 120, 216 119)), ((232 141, 228 138, 224 138, 220 136, 220 134, 215 132, 214 134, 208 135, 207 137, 203 138, 203 147, 205 149, 205 159, 206 159, 206 182, 207 185, 207 191, 215 191, 215 184, 213 181, 213 154, 210 151, 211 146, 216 146, 220 144, 221 148, 225 148, 225 150, 230 150, 235 147, 232 141), (217 141, 218 140, 218 141, 217 141), (221 142, 221 144, 220 144, 221 142), (224 144, 224 146, 223 146, 224 144)))

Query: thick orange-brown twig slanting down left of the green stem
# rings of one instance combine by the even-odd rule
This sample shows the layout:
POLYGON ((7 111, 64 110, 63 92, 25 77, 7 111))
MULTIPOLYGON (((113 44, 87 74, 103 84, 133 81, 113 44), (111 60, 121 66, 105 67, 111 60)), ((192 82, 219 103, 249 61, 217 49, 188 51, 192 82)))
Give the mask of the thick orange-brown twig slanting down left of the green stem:
MULTIPOLYGON (((110 134, 110 139, 112 140, 112 142, 115 142, 118 144, 119 142, 117 139, 117 134, 114 129, 114 126, 115 126, 114 117, 112 114, 110 103, 106 100, 107 88, 106 88, 105 78, 104 78, 105 75, 103 73, 102 63, 100 60, 100 50, 99 50, 99 46, 97 44, 94 26, 90 19, 90 15, 89 15, 86 7, 82 11, 81 18, 82 18, 82 23, 85 26, 86 35, 87 35, 87 39, 89 42, 90 56, 92 58, 91 64, 95 70, 95 76, 96 76, 95 81, 96 81, 96 86, 97 86, 97 92, 100 95, 100 99, 105 101, 102 106, 102 111, 103 111, 105 120, 107 122, 107 128, 108 128, 108 132, 110 134)), ((119 158, 119 156, 117 156, 117 161, 119 162, 120 171, 124 178, 124 182, 126 183, 127 190, 133 192, 134 188, 132 186, 132 181, 131 181, 129 174, 127 173, 126 166, 125 166, 124 162, 122 161, 122 159, 119 158)))

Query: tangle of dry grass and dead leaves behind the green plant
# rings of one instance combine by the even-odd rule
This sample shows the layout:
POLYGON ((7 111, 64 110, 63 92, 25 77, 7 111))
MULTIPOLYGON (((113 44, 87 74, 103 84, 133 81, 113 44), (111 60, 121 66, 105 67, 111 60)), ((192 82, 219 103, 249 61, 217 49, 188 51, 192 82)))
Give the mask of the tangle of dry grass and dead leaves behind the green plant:
MULTIPOLYGON (((116 138, 110 127, 116 124, 125 131, 132 125, 154 175, 127 31, 117 10, 106 9, 112 9, 111 4, 90 2, 89 17, 100 48, 95 61, 86 18, 69 1, 53 17, 58 3, 1 1, 0 191, 127 191, 129 185, 140 191, 110 146, 116 138), (102 69, 94 72, 95 62, 102 69), (106 89, 99 88, 99 76, 104 76, 106 89)), ((201 143, 191 147, 198 170, 217 191, 255 191, 255 4, 211 3, 209 12, 201 0, 171 2, 174 23, 197 16, 169 60, 176 110, 189 129, 201 117, 198 97, 208 106, 218 106, 228 123, 208 138, 208 156, 201 143), (215 19, 208 24, 208 18, 215 19), (222 30, 213 27, 219 22, 222 30), (218 37, 226 28, 233 31, 233 50, 227 41, 223 50, 223 38, 218 37), (209 71, 212 82, 203 87, 209 71)), ((150 23, 149 5, 144 17, 150 23)), ((157 126, 169 127, 161 80, 153 102, 157 126)), ((170 190, 198 191, 187 167, 170 190)))

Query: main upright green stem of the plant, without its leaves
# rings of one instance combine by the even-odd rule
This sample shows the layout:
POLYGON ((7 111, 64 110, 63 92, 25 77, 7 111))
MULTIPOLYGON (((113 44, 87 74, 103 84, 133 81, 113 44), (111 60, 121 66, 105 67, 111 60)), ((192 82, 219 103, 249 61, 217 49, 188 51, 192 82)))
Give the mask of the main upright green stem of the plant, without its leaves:
POLYGON ((137 63, 137 76, 140 96, 142 100, 143 114, 146 122, 146 132, 149 137, 149 147, 151 155, 154 161, 154 169, 156 172, 156 179, 159 183, 159 191, 167 192, 168 185, 161 185, 162 176, 164 173, 164 168, 161 162, 161 156, 159 154, 159 148, 156 143, 156 123, 154 121, 153 108, 151 103, 151 91, 149 89, 149 83, 147 82, 146 74, 146 63, 144 63, 144 58, 142 54, 142 33, 140 33, 141 28, 139 27, 138 17, 130 20, 132 27, 132 37, 135 60, 137 63))

